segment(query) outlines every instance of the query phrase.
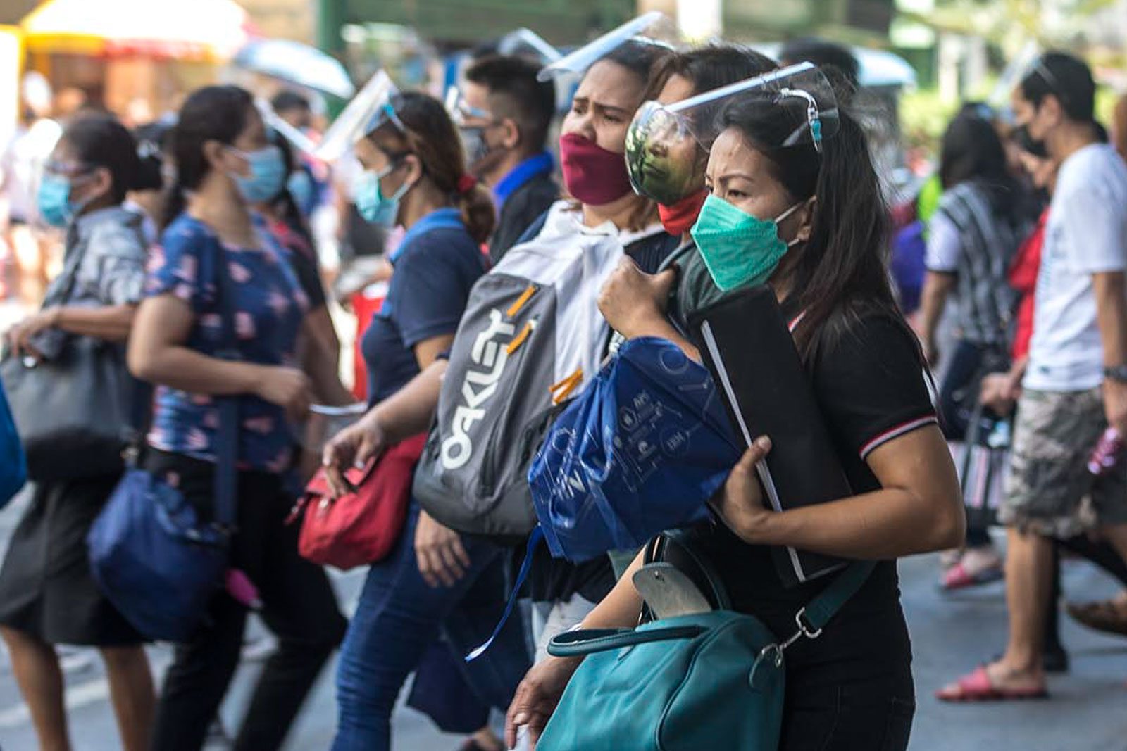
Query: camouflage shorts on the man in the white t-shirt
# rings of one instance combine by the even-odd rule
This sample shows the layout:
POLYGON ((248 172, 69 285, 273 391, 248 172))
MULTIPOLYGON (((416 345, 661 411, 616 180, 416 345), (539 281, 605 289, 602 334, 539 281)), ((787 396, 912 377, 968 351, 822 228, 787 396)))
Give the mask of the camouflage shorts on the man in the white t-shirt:
POLYGON ((1074 537, 1127 522, 1127 462, 1099 479, 1088 472, 1107 424, 1099 388, 1026 391, 1018 403, 1002 524, 1074 537))

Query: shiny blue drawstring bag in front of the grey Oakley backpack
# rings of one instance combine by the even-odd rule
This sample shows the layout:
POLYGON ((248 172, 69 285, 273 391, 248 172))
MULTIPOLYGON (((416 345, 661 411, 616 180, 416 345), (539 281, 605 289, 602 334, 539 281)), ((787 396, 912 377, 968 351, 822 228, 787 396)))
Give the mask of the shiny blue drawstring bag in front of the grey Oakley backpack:
POLYGON ((707 519, 740 454, 708 369, 642 337, 559 415, 529 485, 552 555, 580 562, 707 519))

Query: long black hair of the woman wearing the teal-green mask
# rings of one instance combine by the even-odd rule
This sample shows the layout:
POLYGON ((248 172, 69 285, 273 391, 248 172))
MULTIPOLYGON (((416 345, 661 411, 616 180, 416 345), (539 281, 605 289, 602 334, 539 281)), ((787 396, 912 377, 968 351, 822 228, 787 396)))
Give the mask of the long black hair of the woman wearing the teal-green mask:
POLYGON ((783 260, 790 263, 791 298, 805 313, 795 339, 810 361, 827 341, 823 333, 840 336, 864 314, 886 314, 911 330, 888 280, 888 207, 864 131, 841 108, 837 133, 825 140, 820 154, 810 144, 770 145, 805 119, 806 102, 797 98, 770 106, 742 98, 721 114, 725 128, 738 129, 766 158, 791 204, 816 198, 809 240, 783 260))

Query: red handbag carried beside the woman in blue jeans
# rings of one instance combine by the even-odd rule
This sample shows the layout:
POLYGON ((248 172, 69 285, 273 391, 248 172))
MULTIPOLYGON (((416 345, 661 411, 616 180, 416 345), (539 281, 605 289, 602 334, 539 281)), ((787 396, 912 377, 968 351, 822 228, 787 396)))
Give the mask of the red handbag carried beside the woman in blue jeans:
POLYGON ((403 531, 415 465, 425 444, 426 433, 420 433, 391 446, 363 470, 345 472, 356 492, 336 500, 325 468, 318 470, 287 520, 304 510, 298 538, 301 556, 340 570, 387 557, 403 531))

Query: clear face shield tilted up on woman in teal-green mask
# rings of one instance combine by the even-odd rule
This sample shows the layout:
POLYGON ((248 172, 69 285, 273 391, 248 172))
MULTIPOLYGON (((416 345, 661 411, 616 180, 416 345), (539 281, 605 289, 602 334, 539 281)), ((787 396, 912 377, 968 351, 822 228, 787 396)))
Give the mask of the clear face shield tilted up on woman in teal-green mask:
POLYGON ((645 102, 627 131, 627 171, 639 195, 672 206, 704 187, 704 164, 722 114, 737 104, 762 104, 764 147, 811 145, 819 152, 837 133, 837 98, 815 65, 801 63, 689 99, 645 102))

